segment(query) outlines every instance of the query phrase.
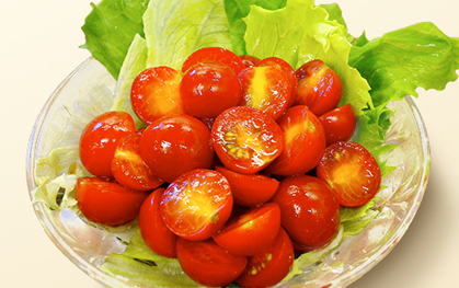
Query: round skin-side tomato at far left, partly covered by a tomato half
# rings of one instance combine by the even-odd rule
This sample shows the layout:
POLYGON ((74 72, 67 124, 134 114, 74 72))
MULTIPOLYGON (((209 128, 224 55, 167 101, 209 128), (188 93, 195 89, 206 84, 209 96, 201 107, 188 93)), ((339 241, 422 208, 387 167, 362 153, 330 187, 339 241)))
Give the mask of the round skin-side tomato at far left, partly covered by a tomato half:
POLYGON ((135 133, 134 119, 125 112, 113 111, 96 116, 81 134, 81 163, 94 176, 113 177, 116 146, 122 138, 135 133))

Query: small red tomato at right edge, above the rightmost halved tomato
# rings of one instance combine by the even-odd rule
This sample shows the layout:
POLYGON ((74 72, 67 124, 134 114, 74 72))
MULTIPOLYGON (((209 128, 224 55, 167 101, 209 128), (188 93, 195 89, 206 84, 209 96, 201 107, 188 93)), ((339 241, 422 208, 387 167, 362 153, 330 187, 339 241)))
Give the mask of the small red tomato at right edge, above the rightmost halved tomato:
POLYGON ((325 129, 326 146, 349 140, 357 123, 351 104, 345 104, 323 114, 319 117, 319 120, 325 129))

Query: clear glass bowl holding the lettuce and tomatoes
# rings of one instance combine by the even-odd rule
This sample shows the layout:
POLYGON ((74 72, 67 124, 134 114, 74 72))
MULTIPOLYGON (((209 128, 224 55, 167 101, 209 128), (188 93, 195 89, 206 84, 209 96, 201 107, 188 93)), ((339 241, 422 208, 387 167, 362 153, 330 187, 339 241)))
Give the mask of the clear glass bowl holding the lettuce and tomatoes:
MULTIPOLYGON (((116 82, 93 58, 81 64, 51 94, 43 107, 27 149, 27 185, 35 183, 36 159, 46 155, 58 141, 69 117, 69 111, 99 84, 114 92, 116 82)), ((395 246, 412 222, 424 196, 429 172, 429 145, 426 128, 411 97, 389 103, 395 110, 388 143, 398 148, 385 157, 397 166, 382 180, 385 189, 376 209, 379 216, 359 234, 347 237, 338 250, 307 267, 303 273, 282 283, 282 287, 346 287, 378 264, 395 246), (345 263, 344 265, 335 265, 345 263)), ((125 246, 115 237, 85 224, 70 210, 56 211, 42 203, 33 203, 44 230, 59 250, 90 277, 106 287, 147 287, 129 279, 114 277, 101 270, 111 253, 122 253, 125 246)), ((149 286, 148 286, 149 287, 149 286)))

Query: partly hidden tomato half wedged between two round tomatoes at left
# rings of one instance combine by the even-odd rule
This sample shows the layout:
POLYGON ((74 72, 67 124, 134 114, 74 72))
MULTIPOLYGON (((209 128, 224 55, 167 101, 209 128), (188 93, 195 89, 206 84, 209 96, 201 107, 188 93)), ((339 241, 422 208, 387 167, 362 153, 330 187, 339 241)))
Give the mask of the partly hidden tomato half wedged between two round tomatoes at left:
POLYGON ((151 191, 163 183, 154 176, 138 152, 140 135, 131 134, 119 140, 112 161, 112 173, 123 186, 137 191, 151 191))

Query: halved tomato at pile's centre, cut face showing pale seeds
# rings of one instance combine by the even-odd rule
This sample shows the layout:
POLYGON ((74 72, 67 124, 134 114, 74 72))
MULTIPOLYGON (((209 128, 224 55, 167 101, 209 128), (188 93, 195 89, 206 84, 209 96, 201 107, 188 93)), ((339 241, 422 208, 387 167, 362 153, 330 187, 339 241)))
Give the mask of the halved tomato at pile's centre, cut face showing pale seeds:
POLYGON ((215 151, 225 166, 252 174, 284 150, 284 135, 273 118, 245 106, 222 112, 211 130, 215 151))

